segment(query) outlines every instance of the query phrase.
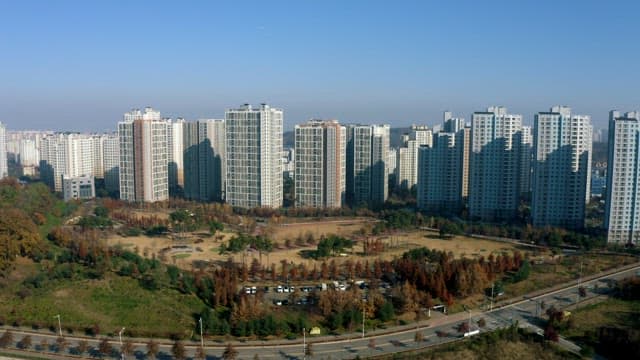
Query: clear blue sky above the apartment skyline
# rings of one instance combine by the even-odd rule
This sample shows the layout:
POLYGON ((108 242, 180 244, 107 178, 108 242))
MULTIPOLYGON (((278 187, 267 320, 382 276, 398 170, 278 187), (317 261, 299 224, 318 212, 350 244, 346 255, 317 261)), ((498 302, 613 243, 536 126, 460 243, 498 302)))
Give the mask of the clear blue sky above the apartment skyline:
POLYGON ((115 130, 244 103, 391 126, 640 108, 640 1, 0 0, 0 121, 115 130))

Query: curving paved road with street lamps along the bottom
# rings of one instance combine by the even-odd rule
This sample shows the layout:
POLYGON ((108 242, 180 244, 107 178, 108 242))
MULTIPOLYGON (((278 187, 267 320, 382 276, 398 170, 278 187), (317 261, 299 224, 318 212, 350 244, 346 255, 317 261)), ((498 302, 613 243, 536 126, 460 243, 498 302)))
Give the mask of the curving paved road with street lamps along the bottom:
MULTIPOLYGON (((477 329, 476 322, 481 317, 486 321, 486 327, 479 329, 480 332, 492 331, 496 328, 508 327, 518 322, 520 327, 530 328, 539 334, 542 334, 541 316, 544 310, 541 309, 542 304, 545 308, 555 306, 558 309, 571 309, 576 306, 578 301, 597 301, 597 297, 603 297, 603 293, 608 289, 608 281, 611 279, 621 279, 634 274, 640 266, 615 272, 613 274, 596 277, 588 281, 584 281, 581 286, 586 287, 587 297, 579 298, 578 285, 574 284, 559 290, 551 291, 543 295, 534 297, 522 297, 512 299, 512 303, 494 308, 491 311, 481 312, 478 310, 471 311, 470 318, 468 313, 458 313, 450 316, 434 314, 434 317, 428 321, 413 326, 404 326, 390 334, 380 334, 381 331, 368 333, 365 338, 356 337, 352 339, 330 340, 324 337, 326 342, 317 342, 317 339, 309 339, 312 342, 314 359, 353 359, 357 355, 366 357, 370 355, 380 355, 386 353, 394 353, 404 350, 424 348, 446 342, 458 341, 462 338, 461 334, 456 331, 456 327, 461 322, 470 321, 472 330, 477 329), (427 324, 429 326, 427 327, 427 324), (423 341, 416 343, 414 341, 416 330, 423 334, 423 341), (439 336, 444 333, 445 336, 439 336)), ((50 333, 31 333, 18 330, 12 330, 15 334, 15 340, 19 340, 22 334, 29 333, 33 337, 33 344, 39 344, 42 339, 47 339, 49 344, 54 344, 56 335, 50 333)), ((389 330, 391 331, 391 330, 389 330)), ((77 344, 77 338, 67 338, 69 346, 74 347, 77 344)), ((90 346, 97 347, 101 339, 86 339, 90 346)), ((239 352, 240 359, 252 359, 257 354, 260 359, 303 359, 303 346, 301 339, 295 341, 281 341, 278 344, 273 342, 247 342, 237 344, 236 349, 239 352)), ((112 345, 117 347, 117 338, 113 340, 112 345)), ((209 343, 205 345, 205 352, 208 359, 219 359, 222 355, 224 344, 209 343)), ((134 342, 135 353, 130 355, 129 359, 143 359, 146 352, 144 342, 134 342)), ((170 359, 171 343, 165 342, 160 344, 160 359, 170 359)), ((199 346, 196 342, 185 342, 187 353, 194 356, 195 349, 199 346)), ((575 344, 561 339, 560 345, 566 349, 578 352, 580 348, 575 344)), ((85 354, 85 356, 87 356, 85 354)), ((117 351, 113 356, 118 357, 117 351)))

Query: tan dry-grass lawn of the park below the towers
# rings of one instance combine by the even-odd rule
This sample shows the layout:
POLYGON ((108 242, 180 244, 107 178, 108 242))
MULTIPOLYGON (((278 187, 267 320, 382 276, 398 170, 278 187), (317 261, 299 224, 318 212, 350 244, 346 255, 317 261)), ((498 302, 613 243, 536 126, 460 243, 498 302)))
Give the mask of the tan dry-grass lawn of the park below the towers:
MULTIPOLYGON (((261 261, 263 265, 280 264, 286 260, 294 263, 306 263, 307 266, 313 267, 319 265, 321 261, 304 258, 302 253, 305 251, 315 250, 315 245, 296 246, 295 239, 300 236, 306 238, 309 234, 313 235, 316 241, 321 235, 336 234, 349 238, 356 238, 356 245, 351 251, 347 251, 346 257, 335 257, 337 263, 347 261, 348 259, 360 261, 374 261, 376 259, 391 260, 410 249, 427 247, 429 249, 437 249, 453 253, 456 257, 488 257, 490 254, 500 255, 504 253, 512 253, 516 247, 509 243, 497 242, 491 240, 470 238, 466 236, 455 236, 446 239, 440 238, 437 233, 425 230, 416 230, 408 232, 395 232, 390 235, 369 236, 368 239, 379 239, 385 244, 385 251, 376 255, 363 255, 362 237, 355 234, 359 233, 363 226, 370 226, 371 219, 352 219, 352 220, 327 220, 312 223, 290 223, 281 224, 275 227, 272 238, 274 239, 274 250, 269 254, 260 254, 257 251, 248 251, 246 253, 237 254, 219 254, 220 245, 231 238, 234 234, 225 231, 216 236, 211 236, 207 232, 188 233, 182 239, 173 240, 168 236, 135 236, 122 237, 120 235, 111 235, 107 242, 109 245, 120 245, 129 250, 135 250, 147 257, 159 256, 162 249, 170 248, 174 245, 187 245, 188 249, 173 249, 166 253, 165 261, 174 263, 183 268, 190 268, 194 260, 201 261, 225 261, 231 257, 237 262, 250 263, 253 258, 261 261), (285 240, 289 239, 290 248, 285 246, 285 240), (186 256, 189 254, 189 256, 186 256)), ((306 243, 305 243, 306 244, 306 243)), ((526 252, 528 250, 522 250, 526 252)))

